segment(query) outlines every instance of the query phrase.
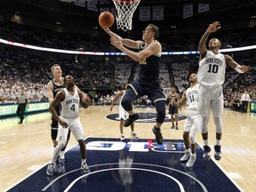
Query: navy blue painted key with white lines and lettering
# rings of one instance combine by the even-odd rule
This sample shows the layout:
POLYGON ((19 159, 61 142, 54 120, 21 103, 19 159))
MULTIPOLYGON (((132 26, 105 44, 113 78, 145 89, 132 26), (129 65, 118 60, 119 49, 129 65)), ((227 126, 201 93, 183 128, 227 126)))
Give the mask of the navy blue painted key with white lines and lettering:
POLYGON ((66 153, 65 164, 56 163, 52 177, 46 175, 44 166, 9 191, 240 191, 212 160, 203 160, 199 146, 193 169, 180 164, 182 140, 164 140, 161 146, 147 139, 89 138, 85 142, 90 173, 81 172, 76 146, 66 153))

